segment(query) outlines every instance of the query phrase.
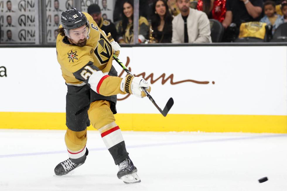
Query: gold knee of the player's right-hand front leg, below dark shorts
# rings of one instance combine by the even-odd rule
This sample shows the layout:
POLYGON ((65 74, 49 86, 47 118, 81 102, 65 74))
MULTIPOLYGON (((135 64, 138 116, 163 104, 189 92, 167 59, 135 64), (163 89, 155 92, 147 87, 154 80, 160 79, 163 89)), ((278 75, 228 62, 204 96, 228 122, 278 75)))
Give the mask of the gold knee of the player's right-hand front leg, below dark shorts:
POLYGON ((88 110, 88 115, 93 127, 96 129, 115 122, 114 114, 110 109, 110 102, 106 100, 92 102, 88 110))

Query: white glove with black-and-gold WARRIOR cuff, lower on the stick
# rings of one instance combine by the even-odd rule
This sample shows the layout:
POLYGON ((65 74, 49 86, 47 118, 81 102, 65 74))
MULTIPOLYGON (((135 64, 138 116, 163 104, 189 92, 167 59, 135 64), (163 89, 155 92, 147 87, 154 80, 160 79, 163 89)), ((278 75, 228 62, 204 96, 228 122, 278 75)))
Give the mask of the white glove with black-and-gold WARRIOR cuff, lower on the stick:
POLYGON ((137 97, 145 97, 146 94, 143 92, 142 87, 146 88, 148 92, 151 91, 150 84, 140 77, 134 77, 127 75, 122 79, 121 90, 125 93, 134 94, 137 97))

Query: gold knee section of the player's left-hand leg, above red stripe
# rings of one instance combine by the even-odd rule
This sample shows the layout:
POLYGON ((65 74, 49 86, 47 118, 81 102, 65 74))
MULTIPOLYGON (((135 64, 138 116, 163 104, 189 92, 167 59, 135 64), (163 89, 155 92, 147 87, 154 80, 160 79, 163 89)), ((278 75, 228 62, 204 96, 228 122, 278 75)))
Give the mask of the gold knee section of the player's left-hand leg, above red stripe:
POLYGON ((72 153, 80 152, 87 143, 87 129, 83 131, 72 131, 67 129, 65 143, 68 151, 72 153))

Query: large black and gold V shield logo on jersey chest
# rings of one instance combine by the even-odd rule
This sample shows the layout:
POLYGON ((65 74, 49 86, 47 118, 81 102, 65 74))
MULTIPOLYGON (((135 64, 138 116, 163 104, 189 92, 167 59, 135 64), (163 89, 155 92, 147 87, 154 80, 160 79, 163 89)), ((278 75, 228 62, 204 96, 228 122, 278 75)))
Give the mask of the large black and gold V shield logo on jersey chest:
POLYGON ((107 61, 112 56, 112 45, 105 39, 105 37, 100 35, 100 39, 98 40, 98 46, 94 51, 101 65, 107 63, 107 61))

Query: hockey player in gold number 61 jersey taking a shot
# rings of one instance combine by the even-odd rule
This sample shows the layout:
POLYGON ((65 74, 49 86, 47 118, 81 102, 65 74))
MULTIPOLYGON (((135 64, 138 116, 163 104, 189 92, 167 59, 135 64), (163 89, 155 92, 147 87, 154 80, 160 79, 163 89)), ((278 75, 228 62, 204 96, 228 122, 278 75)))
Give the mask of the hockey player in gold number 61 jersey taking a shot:
POLYGON ((76 8, 67 10, 62 13, 61 23, 56 48, 68 87, 65 143, 69 159, 59 163, 54 172, 65 175, 84 164, 88 155, 87 126, 92 123, 119 166, 117 177, 124 183, 140 182, 113 114, 117 113, 117 94, 143 97, 142 87, 149 91, 149 83, 131 75, 117 77, 112 55, 119 54, 119 44, 88 13, 76 8))

